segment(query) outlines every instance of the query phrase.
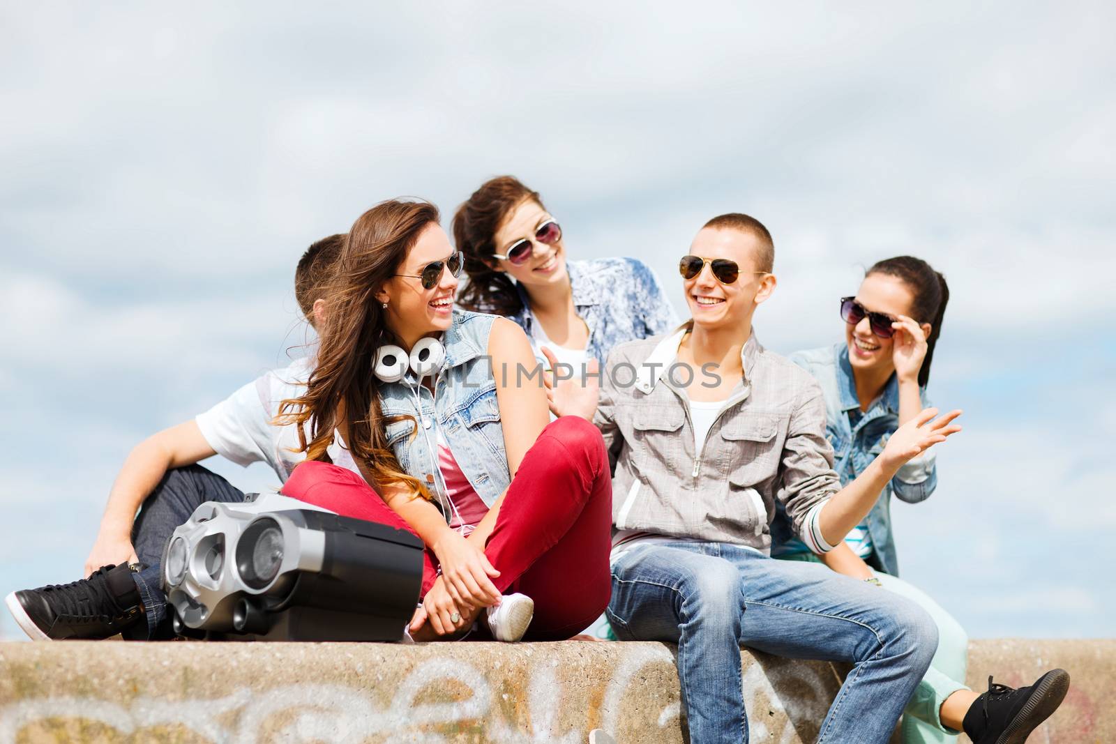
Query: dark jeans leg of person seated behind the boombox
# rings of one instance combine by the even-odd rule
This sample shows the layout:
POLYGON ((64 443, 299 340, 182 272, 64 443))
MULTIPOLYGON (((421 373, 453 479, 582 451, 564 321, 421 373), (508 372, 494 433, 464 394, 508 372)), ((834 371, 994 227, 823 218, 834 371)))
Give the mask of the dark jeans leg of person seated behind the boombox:
POLYGON ((187 465, 167 471, 144 501, 132 526, 132 544, 143 568, 132 578, 143 600, 147 627, 132 628, 127 634, 129 638, 170 638, 173 635, 161 576, 163 548, 174 528, 184 524, 206 501, 241 503, 244 493, 201 465, 187 465))

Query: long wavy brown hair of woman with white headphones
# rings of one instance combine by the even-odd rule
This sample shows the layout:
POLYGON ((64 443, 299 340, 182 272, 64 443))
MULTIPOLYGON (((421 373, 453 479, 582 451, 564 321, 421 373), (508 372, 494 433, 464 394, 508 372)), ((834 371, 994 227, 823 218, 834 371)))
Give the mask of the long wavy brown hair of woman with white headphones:
POLYGON ((389 200, 353 224, 328 284, 317 366, 306 393, 283 400, 276 417, 279 425, 297 426, 296 452, 306 452, 307 460, 329 462, 326 447, 334 442, 341 423, 339 412, 344 410, 345 444, 373 484, 405 485, 425 499, 431 497, 430 492, 403 472, 387 445, 384 425, 391 422, 381 414, 381 383, 372 369, 376 349, 398 342, 387 329, 376 292, 398 272, 420 233, 437 223, 437 207, 430 202, 389 200))

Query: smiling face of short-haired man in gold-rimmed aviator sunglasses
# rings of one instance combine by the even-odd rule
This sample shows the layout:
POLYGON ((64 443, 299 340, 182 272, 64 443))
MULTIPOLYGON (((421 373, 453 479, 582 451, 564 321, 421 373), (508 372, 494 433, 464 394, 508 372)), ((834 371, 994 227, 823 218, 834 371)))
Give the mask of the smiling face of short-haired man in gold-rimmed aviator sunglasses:
POLYGON ((756 273, 759 239, 751 232, 734 229, 704 228, 690 245, 690 254, 703 259, 728 259, 740 267, 740 276, 731 284, 720 282, 706 263, 693 279, 683 279, 686 305, 695 327, 751 329, 756 306, 771 296, 775 274, 756 273))

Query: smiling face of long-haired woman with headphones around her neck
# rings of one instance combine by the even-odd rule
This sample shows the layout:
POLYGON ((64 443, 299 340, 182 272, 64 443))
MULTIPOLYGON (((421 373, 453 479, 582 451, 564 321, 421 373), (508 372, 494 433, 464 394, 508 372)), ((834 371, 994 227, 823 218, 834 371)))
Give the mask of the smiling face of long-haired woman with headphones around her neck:
POLYGON ((376 293, 378 301, 387 302, 384 310, 387 327, 405 344, 412 345, 423 336, 444 331, 453 322, 458 279, 445 267, 432 289, 424 289, 422 279, 417 278, 427 264, 444 262, 453 253, 450 236, 436 222, 430 223, 419 233, 406 259, 395 271, 412 276, 392 277, 376 293))

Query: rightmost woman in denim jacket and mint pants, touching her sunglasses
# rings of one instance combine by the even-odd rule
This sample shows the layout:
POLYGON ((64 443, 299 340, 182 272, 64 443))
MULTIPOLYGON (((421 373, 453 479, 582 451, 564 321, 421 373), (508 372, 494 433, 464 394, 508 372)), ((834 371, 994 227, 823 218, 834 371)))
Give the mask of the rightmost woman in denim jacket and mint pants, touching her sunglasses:
MULTIPOLYGON (((834 447, 834 470, 848 483, 882 451, 896 428, 917 416, 925 397, 930 363, 942 329, 950 291, 945 278, 922 259, 901 255, 879 261, 865 274, 855 297, 841 298, 845 340, 833 346, 791 355, 821 385, 826 399, 826 434, 834 447)), ((825 562, 854 578, 872 581, 922 606, 937 625, 939 644, 926 676, 907 704, 901 725, 904 744, 946 744, 964 728, 973 741, 984 742, 982 706, 977 693, 964 685, 969 637, 961 625, 918 588, 898 578, 891 525, 891 497, 918 503, 929 499, 937 483, 933 451, 899 468, 879 494, 868 516, 826 557, 815 555, 790 538, 780 514, 771 528, 771 554, 785 560, 825 562), (869 567, 870 564, 870 567, 869 567), (875 571, 873 570, 876 569, 875 571)), ((1050 699, 1045 715, 1017 731, 1026 737, 1054 712, 1060 697, 1046 692, 1061 669, 1043 677, 1042 686, 1016 694, 995 685, 989 696, 1045 694, 1050 699), (1022 731, 1026 728, 1026 732, 1022 731)), ((1065 687, 1061 687, 1065 694, 1065 687)), ((1026 717, 1026 716, 1024 716, 1026 717)), ((991 740, 988 740, 991 741, 991 740)), ((995 740, 1002 741, 1002 740, 995 740)), ((1022 738, 1012 741, 1023 741, 1022 738)))

